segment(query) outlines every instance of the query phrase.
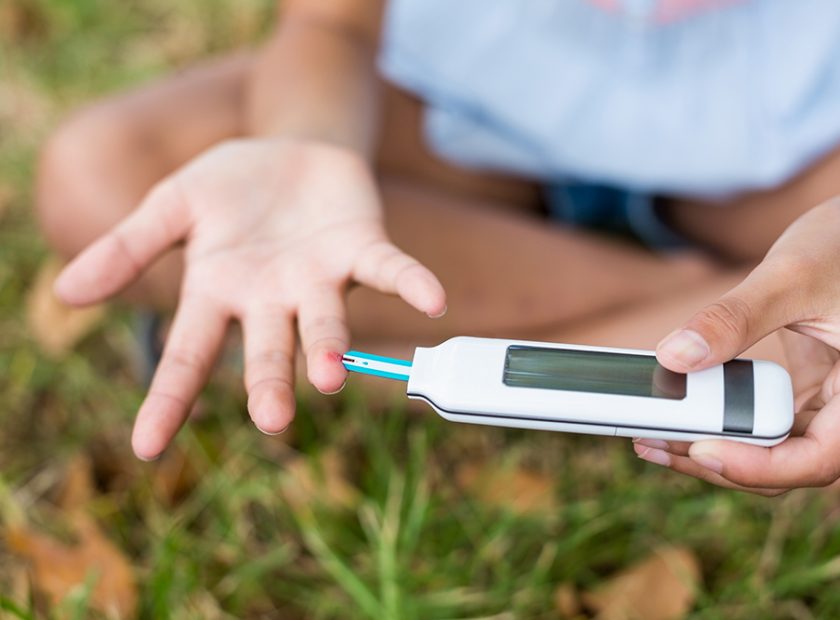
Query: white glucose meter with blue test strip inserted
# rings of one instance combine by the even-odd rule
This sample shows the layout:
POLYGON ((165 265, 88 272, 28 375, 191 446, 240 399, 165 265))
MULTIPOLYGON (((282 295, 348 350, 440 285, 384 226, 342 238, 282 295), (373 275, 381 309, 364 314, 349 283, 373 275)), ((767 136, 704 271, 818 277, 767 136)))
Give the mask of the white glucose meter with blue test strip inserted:
POLYGON ((406 381, 409 398, 453 422, 760 446, 793 426, 790 376, 763 360, 679 374, 652 351, 459 336, 412 361, 350 351, 343 363, 406 381))

